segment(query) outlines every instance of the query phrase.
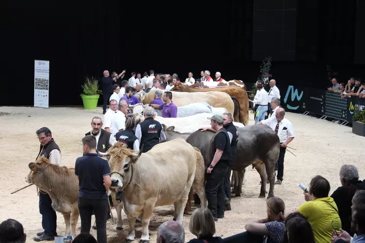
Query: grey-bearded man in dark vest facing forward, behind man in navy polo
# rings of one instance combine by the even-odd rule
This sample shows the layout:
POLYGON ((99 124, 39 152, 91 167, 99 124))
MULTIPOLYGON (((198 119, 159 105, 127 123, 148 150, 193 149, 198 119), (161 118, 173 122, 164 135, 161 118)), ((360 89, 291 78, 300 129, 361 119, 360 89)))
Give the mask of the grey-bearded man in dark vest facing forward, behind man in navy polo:
POLYGON ((91 120, 91 128, 92 130, 85 134, 92 135, 96 139, 96 149, 99 152, 105 153, 107 150, 114 145, 117 141, 114 136, 111 136, 111 133, 102 129, 103 121, 100 117, 93 117, 91 120))

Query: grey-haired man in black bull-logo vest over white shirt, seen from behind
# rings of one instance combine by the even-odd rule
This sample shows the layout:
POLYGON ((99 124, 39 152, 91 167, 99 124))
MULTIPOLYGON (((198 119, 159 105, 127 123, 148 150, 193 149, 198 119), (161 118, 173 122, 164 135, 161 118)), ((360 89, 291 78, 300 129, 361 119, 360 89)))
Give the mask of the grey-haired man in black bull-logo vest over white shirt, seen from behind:
POLYGON ((140 141, 139 149, 142 150, 142 153, 146 153, 154 145, 166 141, 164 129, 160 122, 153 119, 153 115, 153 107, 147 106, 143 111, 145 120, 140 122, 136 127, 135 136, 140 141))

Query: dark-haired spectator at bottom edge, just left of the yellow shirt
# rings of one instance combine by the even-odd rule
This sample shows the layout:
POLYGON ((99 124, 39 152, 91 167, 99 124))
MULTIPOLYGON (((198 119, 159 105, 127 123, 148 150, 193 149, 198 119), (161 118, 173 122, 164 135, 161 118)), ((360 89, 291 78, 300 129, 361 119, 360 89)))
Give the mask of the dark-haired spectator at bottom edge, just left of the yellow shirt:
POLYGON ((312 226, 301 217, 285 221, 287 243, 315 243, 312 226))

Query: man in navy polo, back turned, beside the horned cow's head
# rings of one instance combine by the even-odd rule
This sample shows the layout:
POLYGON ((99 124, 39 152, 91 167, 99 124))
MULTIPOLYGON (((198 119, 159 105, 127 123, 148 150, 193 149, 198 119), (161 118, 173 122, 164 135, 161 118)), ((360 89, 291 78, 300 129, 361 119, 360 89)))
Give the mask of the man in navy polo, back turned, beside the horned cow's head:
POLYGON ((91 215, 95 214, 98 243, 107 243, 108 197, 111 185, 110 167, 96 153, 96 139, 92 135, 83 138, 84 156, 75 163, 75 175, 79 178, 79 210, 81 233, 90 233, 91 215))

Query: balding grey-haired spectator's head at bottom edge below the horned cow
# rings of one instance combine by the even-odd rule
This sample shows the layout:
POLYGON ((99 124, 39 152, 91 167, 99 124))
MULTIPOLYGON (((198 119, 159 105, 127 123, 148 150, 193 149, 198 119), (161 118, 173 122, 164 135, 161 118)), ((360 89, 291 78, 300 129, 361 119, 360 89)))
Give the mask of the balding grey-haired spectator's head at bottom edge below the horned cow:
POLYGON ((180 223, 168 221, 160 225, 156 243, 185 243, 185 231, 180 223))

